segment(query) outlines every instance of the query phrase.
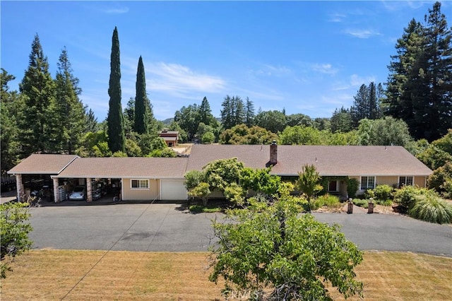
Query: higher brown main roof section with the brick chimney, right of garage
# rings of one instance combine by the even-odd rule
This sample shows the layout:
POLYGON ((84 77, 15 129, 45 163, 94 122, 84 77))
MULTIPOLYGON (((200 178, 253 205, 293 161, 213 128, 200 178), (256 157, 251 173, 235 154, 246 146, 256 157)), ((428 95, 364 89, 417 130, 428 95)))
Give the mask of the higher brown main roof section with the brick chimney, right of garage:
MULTIPOLYGON (((187 170, 202 170, 210 161, 237 158, 261 169, 270 160, 270 146, 195 144, 187 170)), ((278 164, 271 173, 298 175, 313 164, 320 175, 430 175, 432 170, 402 146, 278 146, 278 164)))

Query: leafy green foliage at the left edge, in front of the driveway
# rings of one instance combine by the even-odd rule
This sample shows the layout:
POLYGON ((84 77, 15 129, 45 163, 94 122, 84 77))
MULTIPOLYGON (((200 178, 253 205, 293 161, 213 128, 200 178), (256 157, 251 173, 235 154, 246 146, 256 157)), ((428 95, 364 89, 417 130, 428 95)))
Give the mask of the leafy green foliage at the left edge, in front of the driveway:
POLYGON ((32 226, 28 223, 30 212, 28 203, 2 203, 0 205, 1 264, 0 278, 6 278, 6 272, 12 271, 11 262, 16 256, 32 247, 28 233, 32 226))

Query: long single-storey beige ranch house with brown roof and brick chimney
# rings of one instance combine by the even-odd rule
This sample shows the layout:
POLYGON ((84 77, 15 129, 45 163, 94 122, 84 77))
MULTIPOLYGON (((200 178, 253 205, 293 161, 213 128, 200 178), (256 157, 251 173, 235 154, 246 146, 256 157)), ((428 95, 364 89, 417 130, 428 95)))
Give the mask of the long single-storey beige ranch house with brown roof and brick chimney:
MULTIPOLYGON (((302 166, 312 164, 322 177, 331 179, 327 190, 345 197, 347 184, 341 177, 357 179, 360 183, 357 192, 364 193, 379 184, 425 187, 427 177, 432 174, 432 170, 402 146, 277 146, 275 143, 270 146, 195 144, 188 158, 31 155, 8 173, 23 183, 23 175, 44 172, 37 167, 51 163, 55 167, 46 175, 52 177, 56 201, 59 201, 57 187, 73 179, 87 186, 88 201, 93 179, 119 183, 123 200, 184 200, 186 172, 202 170, 213 160, 227 158, 237 158, 254 169, 272 166, 270 173, 283 179, 297 177, 302 166)), ((18 195, 23 193, 24 185, 19 190, 18 184, 18 195)))

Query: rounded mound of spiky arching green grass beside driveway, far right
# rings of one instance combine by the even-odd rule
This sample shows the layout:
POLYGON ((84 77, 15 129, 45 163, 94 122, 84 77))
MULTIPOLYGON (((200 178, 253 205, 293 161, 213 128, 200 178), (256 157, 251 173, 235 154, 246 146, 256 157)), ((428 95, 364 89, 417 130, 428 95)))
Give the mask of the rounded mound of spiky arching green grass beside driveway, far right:
POLYGON ((417 201, 409 211, 412 218, 429 223, 451 223, 452 204, 441 199, 434 191, 417 196, 417 201))

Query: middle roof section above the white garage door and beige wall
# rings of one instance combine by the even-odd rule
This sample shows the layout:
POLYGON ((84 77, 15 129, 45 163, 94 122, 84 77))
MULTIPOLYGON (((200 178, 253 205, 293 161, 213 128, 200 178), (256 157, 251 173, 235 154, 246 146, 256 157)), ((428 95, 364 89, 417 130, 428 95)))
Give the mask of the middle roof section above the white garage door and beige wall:
POLYGON ((188 158, 78 158, 58 177, 184 178, 188 158))

